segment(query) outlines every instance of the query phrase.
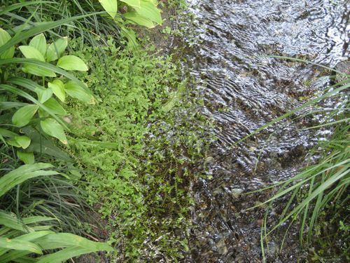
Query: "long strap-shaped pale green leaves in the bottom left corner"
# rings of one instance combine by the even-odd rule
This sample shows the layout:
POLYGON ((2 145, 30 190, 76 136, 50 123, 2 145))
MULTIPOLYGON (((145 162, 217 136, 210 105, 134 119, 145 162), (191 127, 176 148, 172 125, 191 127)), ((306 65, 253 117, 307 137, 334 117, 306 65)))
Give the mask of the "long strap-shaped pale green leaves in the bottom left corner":
MULTIPOLYGON (((0 197, 10 189, 35 177, 57 175, 48 163, 35 163, 10 171, 0 177, 0 197)), ((13 213, 0 210, 0 261, 1 262, 62 262, 71 257, 113 250, 109 245, 89 241, 86 238, 67 233, 55 233, 52 225, 42 222, 56 220, 54 217, 31 216, 20 218, 13 213), (61 249, 62 248, 62 249, 61 249), (52 250, 61 249, 57 252, 52 250), (47 251, 52 251, 48 255, 47 251), (27 257, 37 255, 39 257, 27 257)))

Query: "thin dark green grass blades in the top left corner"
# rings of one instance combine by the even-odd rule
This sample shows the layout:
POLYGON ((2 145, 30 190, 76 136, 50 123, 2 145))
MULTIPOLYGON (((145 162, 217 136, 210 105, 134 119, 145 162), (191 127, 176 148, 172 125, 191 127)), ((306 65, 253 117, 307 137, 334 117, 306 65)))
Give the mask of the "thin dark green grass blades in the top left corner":
POLYGON ((118 25, 111 22, 108 16, 104 15, 105 12, 98 13, 103 11, 99 1, 25 1, 20 4, 14 4, 14 2, 18 1, 8 1, 0 11, 5 25, 10 19, 9 28, 20 27, 24 22, 27 22, 27 27, 30 27, 41 25, 43 22, 86 15, 81 19, 64 22, 47 33, 52 36, 71 36, 72 38, 80 36, 93 46, 97 46, 99 41, 106 41, 106 36, 115 36, 116 39, 120 37, 118 25))

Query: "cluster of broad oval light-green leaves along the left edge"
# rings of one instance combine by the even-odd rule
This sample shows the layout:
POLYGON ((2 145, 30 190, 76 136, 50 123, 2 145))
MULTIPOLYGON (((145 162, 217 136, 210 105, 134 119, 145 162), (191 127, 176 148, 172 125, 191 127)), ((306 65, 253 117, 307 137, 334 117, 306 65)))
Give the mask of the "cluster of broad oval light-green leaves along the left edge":
MULTIPOLYGON (((10 41, 10 35, 0 29, 0 39, 3 44, 10 41)), ((67 39, 57 39, 57 41, 47 44, 43 33, 34 36, 29 42, 28 46, 20 46, 19 49, 26 59, 31 60, 31 64, 27 60, 23 61, 22 71, 26 74, 34 76, 40 76, 42 79, 42 85, 29 80, 28 78, 22 78, 18 76, 12 76, 11 72, 7 72, 3 69, 1 72, 2 83, 0 84, 3 90, 9 93, 15 93, 22 97, 27 98, 33 104, 27 102, 19 102, 20 104, 14 104, 12 101, 6 101, 6 95, 3 96, 0 107, 6 109, 12 109, 13 107, 21 106, 12 116, 12 123, 18 128, 23 128, 31 123, 39 122, 43 133, 57 138, 63 144, 66 144, 66 135, 64 134, 64 128, 66 127, 59 116, 64 116, 66 111, 55 100, 57 97, 64 102, 66 95, 77 98, 84 102, 93 102, 93 97, 90 92, 86 91, 86 88, 81 87, 80 83, 75 81, 67 81, 64 83, 61 79, 55 78, 56 74, 51 69, 62 68, 69 71, 86 71, 87 66, 80 60, 80 58, 73 55, 64 55, 64 50, 67 46, 67 39), (56 67, 51 67, 48 62, 58 60, 56 67), (36 62, 43 62, 37 64, 36 62), (31 94, 20 90, 13 84, 27 88, 34 93, 36 97, 31 94), (47 87, 46 87, 47 86, 47 87), (35 116, 38 116, 36 121, 35 116)), ((2 53, 2 60, 10 60, 13 58, 14 48, 11 47, 6 52, 2 53)), ((57 70, 60 72, 60 70, 57 70)), ((37 126, 37 124, 36 124, 37 126)), ((7 143, 18 148, 27 149, 30 144, 30 138, 26 135, 18 135, 18 130, 5 130, 1 129, 1 136, 7 137, 7 143)), ((25 163, 34 163, 33 153, 23 153, 19 151, 18 157, 25 161, 25 163)))

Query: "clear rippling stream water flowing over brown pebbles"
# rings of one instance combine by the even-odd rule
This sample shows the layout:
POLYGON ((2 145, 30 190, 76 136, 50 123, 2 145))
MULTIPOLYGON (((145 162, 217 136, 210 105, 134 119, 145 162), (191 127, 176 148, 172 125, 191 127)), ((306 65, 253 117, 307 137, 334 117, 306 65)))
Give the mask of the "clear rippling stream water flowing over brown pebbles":
MULTIPOLYGON (((195 207, 189 262, 261 262, 264 210, 248 210, 268 193, 245 195, 295 175, 316 137, 298 119, 235 145, 245 135, 302 103, 329 84, 320 68, 256 55, 283 55, 335 67, 349 58, 346 0, 188 0, 181 27, 184 67, 205 97, 204 114, 215 121, 218 140, 207 156, 208 174, 193 185, 195 207), (347 28, 346 28, 346 25, 347 28)), ((331 105, 332 102, 330 102, 331 105)), ((328 105, 328 106, 330 106, 328 105)), ((279 213, 272 211, 272 213, 279 213)), ((269 222, 268 224, 273 224, 269 222)), ((268 226, 269 227, 269 226, 268 226)), ((270 262, 297 262, 297 233, 285 250, 269 241, 270 262)))

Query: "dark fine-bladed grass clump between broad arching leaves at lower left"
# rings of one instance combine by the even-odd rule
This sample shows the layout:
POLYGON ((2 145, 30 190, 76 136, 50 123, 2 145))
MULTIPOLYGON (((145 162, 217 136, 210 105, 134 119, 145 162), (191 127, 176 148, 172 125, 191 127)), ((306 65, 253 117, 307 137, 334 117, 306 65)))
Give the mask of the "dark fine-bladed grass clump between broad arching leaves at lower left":
MULTIPOLYGON (((20 160, 11 151, 5 145, 0 148, 3 160, 0 163, 0 178, 7 171, 21 166, 20 160)), ((43 156, 38 161, 48 161, 48 157, 43 156)), ((57 173, 64 172, 66 168, 57 170, 57 173)), ((83 222, 90 206, 85 201, 85 192, 73 182, 62 175, 25 180, 0 197, 0 209, 13 211, 20 217, 23 215, 55 217, 56 220, 51 223, 52 227, 60 231, 85 234, 83 222)))

